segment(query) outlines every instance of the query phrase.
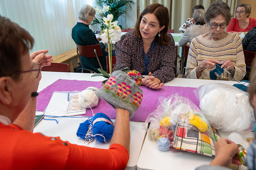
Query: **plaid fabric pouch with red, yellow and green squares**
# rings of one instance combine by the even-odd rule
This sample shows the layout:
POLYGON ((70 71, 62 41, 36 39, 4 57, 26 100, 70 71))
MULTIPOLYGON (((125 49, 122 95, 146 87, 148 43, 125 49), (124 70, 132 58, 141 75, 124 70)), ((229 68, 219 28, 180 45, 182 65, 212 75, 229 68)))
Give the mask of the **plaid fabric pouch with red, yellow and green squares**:
POLYGON ((186 131, 182 125, 177 123, 173 147, 188 152, 195 152, 207 156, 215 155, 215 143, 220 139, 217 129, 213 133, 202 133, 194 129, 186 131))

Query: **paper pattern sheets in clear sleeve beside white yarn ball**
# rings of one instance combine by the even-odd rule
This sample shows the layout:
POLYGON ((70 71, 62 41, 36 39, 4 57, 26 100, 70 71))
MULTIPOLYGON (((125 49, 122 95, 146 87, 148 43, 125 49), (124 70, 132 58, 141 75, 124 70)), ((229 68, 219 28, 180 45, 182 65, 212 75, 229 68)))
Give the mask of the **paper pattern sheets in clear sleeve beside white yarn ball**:
POLYGON ((48 106, 44 110, 44 115, 48 116, 72 116, 85 114, 86 108, 81 107, 78 103, 79 91, 53 92, 48 106))

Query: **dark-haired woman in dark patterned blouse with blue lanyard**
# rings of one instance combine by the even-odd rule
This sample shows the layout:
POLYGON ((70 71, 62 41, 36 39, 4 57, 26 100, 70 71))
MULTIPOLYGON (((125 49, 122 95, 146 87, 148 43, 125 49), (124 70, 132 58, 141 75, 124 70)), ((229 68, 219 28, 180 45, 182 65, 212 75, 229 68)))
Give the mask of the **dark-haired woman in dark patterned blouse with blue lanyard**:
POLYGON ((137 70, 143 78, 142 85, 160 89, 163 83, 175 77, 175 43, 167 34, 168 9, 161 4, 151 4, 136 21, 135 30, 124 34, 116 43, 115 68, 137 70))

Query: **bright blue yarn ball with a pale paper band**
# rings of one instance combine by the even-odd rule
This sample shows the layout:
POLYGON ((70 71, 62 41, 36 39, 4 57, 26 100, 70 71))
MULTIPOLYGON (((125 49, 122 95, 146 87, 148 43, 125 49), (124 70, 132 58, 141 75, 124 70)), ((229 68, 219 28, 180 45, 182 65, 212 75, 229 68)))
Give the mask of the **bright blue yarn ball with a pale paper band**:
MULTIPOLYGON (((104 113, 96 113, 93 117, 93 121, 96 118, 105 118, 107 120, 110 120, 110 118, 104 113)), ((105 137, 105 141, 108 141, 109 139, 112 138, 113 132, 114 132, 114 127, 108 122, 98 121, 93 125, 93 135, 96 135, 96 134, 103 135, 105 137)), ((94 136, 94 138, 99 142, 102 142, 102 143, 105 142, 104 138, 100 135, 96 135, 94 136)))

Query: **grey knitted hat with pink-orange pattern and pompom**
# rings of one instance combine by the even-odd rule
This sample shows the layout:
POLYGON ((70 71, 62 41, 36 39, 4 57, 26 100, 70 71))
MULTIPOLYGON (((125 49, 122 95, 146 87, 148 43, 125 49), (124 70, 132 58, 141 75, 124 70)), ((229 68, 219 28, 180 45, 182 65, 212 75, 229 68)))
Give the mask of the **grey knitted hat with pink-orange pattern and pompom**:
POLYGON ((139 87, 141 79, 141 74, 135 70, 127 74, 120 70, 114 71, 96 94, 112 107, 117 106, 128 110, 132 118, 143 98, 143 91, 139 87))

